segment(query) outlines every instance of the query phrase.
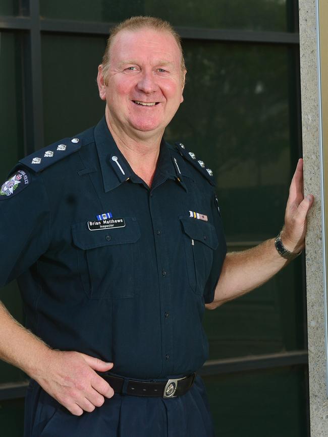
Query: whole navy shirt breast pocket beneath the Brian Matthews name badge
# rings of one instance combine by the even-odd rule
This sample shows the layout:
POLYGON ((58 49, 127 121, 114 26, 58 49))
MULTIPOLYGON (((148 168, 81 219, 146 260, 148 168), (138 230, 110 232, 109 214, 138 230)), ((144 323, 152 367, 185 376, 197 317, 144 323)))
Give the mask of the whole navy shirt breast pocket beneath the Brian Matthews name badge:
POLYGON ((140 228, 135 217, 124 220, 124 227, 92 231, 86 222, 72 226, 81 281, 90 299, 134 297, 140 284, 140 228))

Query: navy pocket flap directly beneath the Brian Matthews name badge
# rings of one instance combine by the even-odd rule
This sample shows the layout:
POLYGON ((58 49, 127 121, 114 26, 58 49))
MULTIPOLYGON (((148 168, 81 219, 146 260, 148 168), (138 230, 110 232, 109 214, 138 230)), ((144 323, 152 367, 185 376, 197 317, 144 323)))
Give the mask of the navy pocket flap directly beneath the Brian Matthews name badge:
POLYGON ((114 244, 135 243, 140 238, 140 228, 135 217, 125 217, 125 226, 89 230, 88 222, 72 225, 74 244, 80 249, 93 249, 114 244))

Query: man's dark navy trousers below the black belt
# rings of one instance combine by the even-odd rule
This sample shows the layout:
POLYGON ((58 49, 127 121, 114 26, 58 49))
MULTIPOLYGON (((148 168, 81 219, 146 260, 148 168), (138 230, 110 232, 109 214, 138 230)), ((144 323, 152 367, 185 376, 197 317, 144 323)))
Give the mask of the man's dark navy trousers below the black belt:
POLYGON ((31 381, 25 401, 24 437, 214 437, 199 376, 172 399, 115 394, 92 413, 74 416, 31 381))

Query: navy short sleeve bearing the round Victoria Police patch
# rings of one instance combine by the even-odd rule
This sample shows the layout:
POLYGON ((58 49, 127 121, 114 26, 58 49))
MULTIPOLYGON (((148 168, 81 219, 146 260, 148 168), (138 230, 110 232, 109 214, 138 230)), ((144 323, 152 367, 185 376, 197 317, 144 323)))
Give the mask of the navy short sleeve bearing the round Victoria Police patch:
POLYGON ((25 272, 46 251, 49 226, 41 175, 16 166, 0 188, 0 286, 25 272))

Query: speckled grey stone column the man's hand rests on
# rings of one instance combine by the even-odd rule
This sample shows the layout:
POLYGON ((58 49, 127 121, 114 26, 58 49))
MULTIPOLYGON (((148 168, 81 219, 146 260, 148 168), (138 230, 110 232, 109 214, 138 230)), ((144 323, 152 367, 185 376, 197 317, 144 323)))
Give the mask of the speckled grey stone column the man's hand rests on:
POLYGON ((324 290, 321 235, 321 180, 316 5, 299 0, 304 193, 315 196, 306 237, 306 285, 311 436, 328 436, 324 290))

